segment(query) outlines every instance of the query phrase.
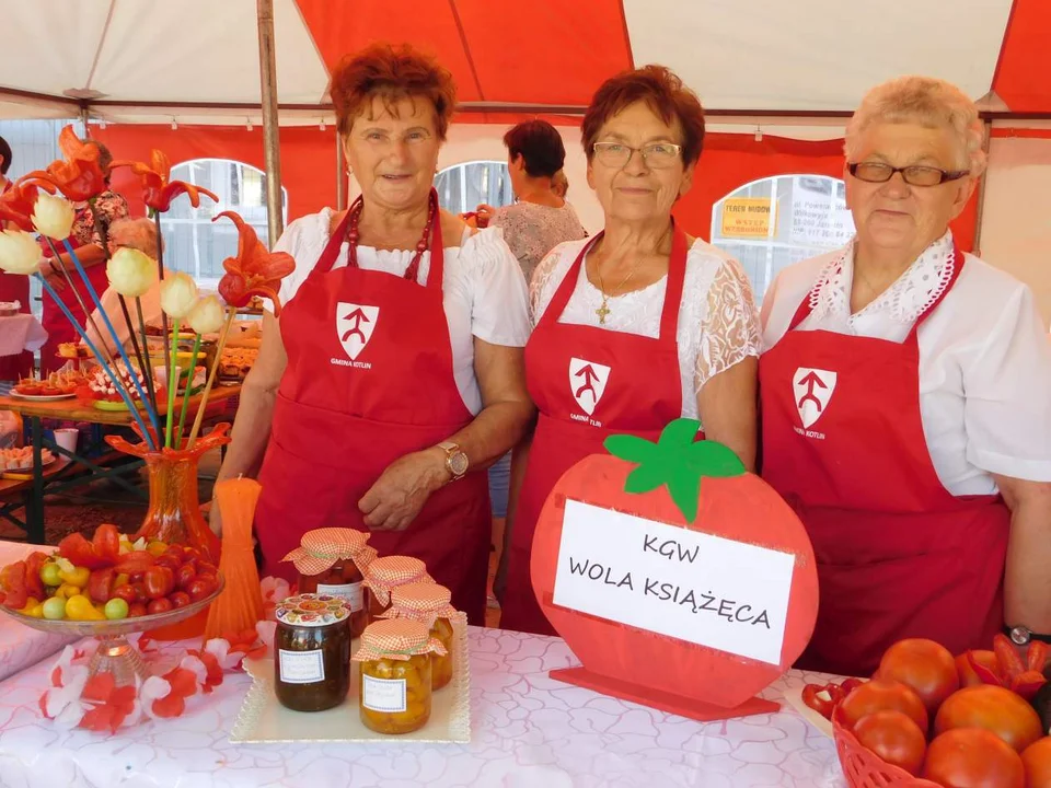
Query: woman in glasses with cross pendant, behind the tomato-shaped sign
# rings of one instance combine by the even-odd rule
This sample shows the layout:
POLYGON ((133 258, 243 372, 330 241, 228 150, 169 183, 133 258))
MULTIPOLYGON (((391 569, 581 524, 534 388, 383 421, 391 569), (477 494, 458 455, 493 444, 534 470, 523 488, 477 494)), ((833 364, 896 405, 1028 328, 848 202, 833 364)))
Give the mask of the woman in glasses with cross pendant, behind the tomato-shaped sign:
POLYGON ((553 629, 533 595, 530 552, 565 471, 603 452, 612 432, 656 440, 683 416, 749 467, 755 457, 751 288, 736 260, 671 218, 701 155, 701 103, 668 69, 648 66, 608 80, 581 130, 605 230, 556 246, 533 274, 526 374, 540 416, 515 453, 504 552, 500 626, 544 634, 553 629))

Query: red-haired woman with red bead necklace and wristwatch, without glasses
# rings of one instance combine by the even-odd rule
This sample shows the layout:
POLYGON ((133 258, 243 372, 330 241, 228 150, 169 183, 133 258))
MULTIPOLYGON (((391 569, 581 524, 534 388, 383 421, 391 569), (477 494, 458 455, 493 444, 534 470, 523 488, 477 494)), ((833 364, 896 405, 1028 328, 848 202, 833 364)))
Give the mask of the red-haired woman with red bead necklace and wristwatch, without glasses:
POLYGON ((373 46, 344 59, 331 94, 361 196, 293 221, 276 244, 296 270, 280 318, 264 318, 219 478, 258 475, 265 572, 293 571, 281 559, 305 531, 368 530, 381 555, 423 559, 481 624, 484 470, 533 415, 526 282, 498 230, 438 207, 455 106, 446 69, 373 46))

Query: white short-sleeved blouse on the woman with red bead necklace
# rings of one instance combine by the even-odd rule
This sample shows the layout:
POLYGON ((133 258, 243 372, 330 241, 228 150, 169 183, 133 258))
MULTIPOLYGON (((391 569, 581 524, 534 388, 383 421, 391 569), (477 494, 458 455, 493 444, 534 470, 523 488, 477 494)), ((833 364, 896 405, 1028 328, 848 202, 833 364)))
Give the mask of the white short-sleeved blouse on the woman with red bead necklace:
MULTIPOLYGON (((332 215, 331 208, 324 208, 320 213, 297 219, 274 244, 275 252, 288 252, 296 258, 296 269, 281 281, 282 304, 291 301, 317 265, 328 244, 332 215)), ((400 277, 405 275, 414 254, 413 250, 358 246, 358 265, 366 270, 400 277)), ((346 265, 347 243, 344 242, 333 268, 346 265)), ((420 281, 426 281, 429 270, 430 252, 425 252, 419 263, 420 281)), ((442 298, 457 389, 467 409, 477 414, 482 410, 482 392, 474 374, 473 337, 490 345, 524 347, 530 333, 526 279, 499 229, 470 236, 465 233, 460 246, 444 250, 442 298)), ((264 299, 263 303, 270 309, 269 301, 264 299)))

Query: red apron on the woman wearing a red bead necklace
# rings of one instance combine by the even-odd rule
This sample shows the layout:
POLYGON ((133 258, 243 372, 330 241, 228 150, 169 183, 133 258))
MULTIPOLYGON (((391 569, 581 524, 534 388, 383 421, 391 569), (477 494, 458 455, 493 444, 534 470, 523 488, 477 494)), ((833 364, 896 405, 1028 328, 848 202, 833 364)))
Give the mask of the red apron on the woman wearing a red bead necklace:
MULTIPOLYGON (((386 466, 474 418, 453 375, 440 217, 423 285, 357 267, 333 270, 346 230, 344 220, 281 312, 288 367, 255 526, 264 571, 289 580, 296 570, 281 558, 304 532, 368 531, 358 501, 386 466)), ((486 474, 469 473, 434 493, 405 531, 372 531, 369 544, 381 556, 421 559, 452 604, 482 625, 490 528, 486 474)))

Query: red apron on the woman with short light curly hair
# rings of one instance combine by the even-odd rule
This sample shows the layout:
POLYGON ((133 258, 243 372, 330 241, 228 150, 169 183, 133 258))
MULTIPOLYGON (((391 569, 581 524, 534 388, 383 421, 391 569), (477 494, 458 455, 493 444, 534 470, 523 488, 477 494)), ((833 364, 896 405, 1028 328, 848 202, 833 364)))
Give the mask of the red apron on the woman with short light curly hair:
MULTIPOLYGON (((952 279, 965 258, 959 250, 952 279)), ((798 665, 869 675, 896 640, 952 653, 990 648, 1003 625, 1010 512, 998 496, 942 485, 920 416, 916 332, 903 343, 793 331, 760 360, 763 478, 807 526, 821 605, 798 665)))

